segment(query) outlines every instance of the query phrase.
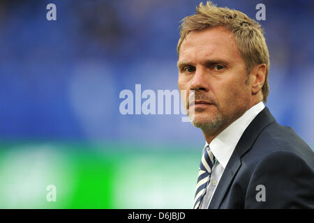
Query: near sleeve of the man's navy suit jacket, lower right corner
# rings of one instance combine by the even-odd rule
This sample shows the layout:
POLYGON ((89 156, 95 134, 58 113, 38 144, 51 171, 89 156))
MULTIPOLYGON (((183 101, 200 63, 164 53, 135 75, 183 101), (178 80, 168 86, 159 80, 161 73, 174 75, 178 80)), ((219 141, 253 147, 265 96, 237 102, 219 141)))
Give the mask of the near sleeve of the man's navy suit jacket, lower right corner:
POLYGON ((246 208, 314 208, 314 172, 299 155, 276 150, 264 155, 253 170, 246 208), (263 187, 264 201, 257 198, 263 187))

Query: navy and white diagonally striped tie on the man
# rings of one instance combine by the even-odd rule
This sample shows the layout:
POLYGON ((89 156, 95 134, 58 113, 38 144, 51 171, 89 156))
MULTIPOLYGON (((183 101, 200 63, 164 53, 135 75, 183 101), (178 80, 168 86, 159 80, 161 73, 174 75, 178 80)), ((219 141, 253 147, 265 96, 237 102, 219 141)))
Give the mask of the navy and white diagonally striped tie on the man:
POLYGON ((215 157, 211 153, 209 146, 204 149, 202 160, 200 162, 200 169, 198 172, 195 199, 194 199, 194 209, 200 207, 200 203, 203 200, 204 194, 206 192, 207 182, 211 178, 211 168, 214 165, 215 157))

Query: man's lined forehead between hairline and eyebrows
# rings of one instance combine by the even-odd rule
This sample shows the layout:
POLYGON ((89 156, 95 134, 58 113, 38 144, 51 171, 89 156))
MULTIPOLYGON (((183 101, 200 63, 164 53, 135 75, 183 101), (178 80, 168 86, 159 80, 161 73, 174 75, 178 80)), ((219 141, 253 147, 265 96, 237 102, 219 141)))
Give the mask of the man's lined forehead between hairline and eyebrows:
POLYGON ((202 59, 241 60, 234 35, 223 27, 188 33, 179 49, 179 61, 202 59))

